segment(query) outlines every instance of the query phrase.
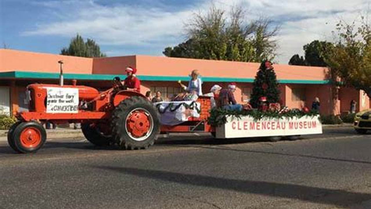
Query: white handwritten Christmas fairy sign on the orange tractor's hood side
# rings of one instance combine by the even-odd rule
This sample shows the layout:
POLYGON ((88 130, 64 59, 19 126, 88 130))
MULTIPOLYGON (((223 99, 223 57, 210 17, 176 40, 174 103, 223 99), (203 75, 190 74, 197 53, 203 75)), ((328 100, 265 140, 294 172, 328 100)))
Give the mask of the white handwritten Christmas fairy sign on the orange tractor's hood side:
POLYGON ((47 87, 47 113, 78 113, 79 89, 47 87))

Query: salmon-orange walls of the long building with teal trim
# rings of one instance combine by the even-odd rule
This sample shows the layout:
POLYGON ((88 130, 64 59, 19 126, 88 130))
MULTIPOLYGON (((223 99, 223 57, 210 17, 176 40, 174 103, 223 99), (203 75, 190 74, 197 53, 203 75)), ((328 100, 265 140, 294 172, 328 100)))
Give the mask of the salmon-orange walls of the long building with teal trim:
MULTIPOLYGON (((10 49, 0 49, 0 72, 6 71, 32 71, 59 73, 58 61, 64 61, 65 73, 78 74, 125 74, 126 66, 138 69, 137 75, 157 76, 188 76, 193 69, 199 69, 204 77, 224 78, 254 78, 259 63, 210 61, 198 59, 167 58, 160 56, 120 56, 110 58, 79 58, 73 56, 53 55, 46 53, 24 52, 10 49)), ((277 78, 280 80, 316 80, 326 79, 327 69, 321 67, 274 65, 277 78)), ((95 82, 95 81, 91 81, 95 82)), ((91 83, 93 84, 93 83, 91 83)), ((102 83, 103 84, 103 83, 102 83)), ((227 83, 204 82, 203 92, 208 93, 211 86, 220 84, 224 88, 227 83)), ((99 86, 99 84, 94 84, 99 86)), ((105 82, 106 85, 106 82, 105 82)), ((104 86, 105 86, 104 85, 104 86)), ((151 86, 173 86, 176 82, 142 82, 141 92, 144 94, 151 86)), ((237 83, 236 100, 242 101, 242 89, 252 89, 251 83, 237 83)), ((332 99, 331 85, 320 84, 280 84, 281 98, 284 105, 289 108, 301 108, 304 105, 311 107, 315 97, 321 101, 322 114, 339 114, 349 110, 351 99, 358 103, 357 111, 370 108, 370 98, 363 96, 361 91, 355 89, 339 89, 339 98, 332 99), (306 89, 306 101, 292 101, 292 88, 306 89), (362 106, 362 99, 365 100, 362 106), (334 107, 334 108, 333 108, 334 107)), ((13 97, 15 97, 13 95, 13 97)), ((12 106, 17 109, 16 100, 12 106)))

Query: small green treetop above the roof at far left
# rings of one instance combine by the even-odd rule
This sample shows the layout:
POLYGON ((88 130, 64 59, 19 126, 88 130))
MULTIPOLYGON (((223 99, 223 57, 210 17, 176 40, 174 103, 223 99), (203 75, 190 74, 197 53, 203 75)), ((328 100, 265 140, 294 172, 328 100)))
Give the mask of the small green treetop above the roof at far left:
POLYGON ((76 37, 71 39, 68 48, 64 47, 60 50, 61 55, 69 56, 81 56, 81 57, 105 57, 104 53, 101 53, 99 45, 95 43, 93 39, 84 39, 77 34, 76 37))

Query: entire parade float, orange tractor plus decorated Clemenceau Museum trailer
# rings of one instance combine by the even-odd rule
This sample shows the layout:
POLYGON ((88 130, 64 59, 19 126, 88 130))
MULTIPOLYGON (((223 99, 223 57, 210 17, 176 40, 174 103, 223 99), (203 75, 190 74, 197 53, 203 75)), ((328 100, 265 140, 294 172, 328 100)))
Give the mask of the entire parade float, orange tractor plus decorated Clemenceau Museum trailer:
POLYGON ((276 74, 263 62, 254 81, 251 101, 242 110, 211 108, 211 97, 183 93, 175 101, 152 104, 145 95, 127 89, 120 78, 112 88, 97 89, 63 83, 31 84, 28 112, 19 112, 8 131, 8 143, 19 153, 39 150, 47 139, 43 124, 81 123, 86 139, 96 146, 117 144, 123 149, 148 148, 159 133, 209 132, 217 138, 269 137, 322 133, 317 112, 289 110, 279 103, 276 74))

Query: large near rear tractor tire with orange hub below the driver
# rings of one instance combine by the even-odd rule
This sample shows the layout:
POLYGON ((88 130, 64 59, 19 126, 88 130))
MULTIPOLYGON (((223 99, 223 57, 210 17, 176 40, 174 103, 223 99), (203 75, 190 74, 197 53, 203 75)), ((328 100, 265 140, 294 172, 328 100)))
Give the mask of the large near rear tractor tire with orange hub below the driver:
POLYGON ((121 148, 146 149, 160 133, 160 113, 144 97, 120 102, 112 113, 112 135, 121 148))

